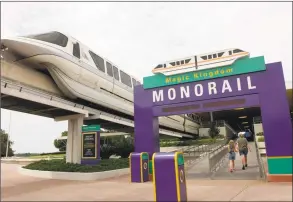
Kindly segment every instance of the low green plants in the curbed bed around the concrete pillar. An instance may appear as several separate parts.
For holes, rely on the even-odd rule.
[[[41,160],[24,166],[26,169],[59,172],[103,172],[129,167],[129,159],[105,159],[98,165],[66,163],[64,159]]]

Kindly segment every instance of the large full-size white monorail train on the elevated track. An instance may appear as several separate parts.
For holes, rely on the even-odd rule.
[[[50,74],[63,94],[133,117],[133,88],[138,79],[100,57],[69,35],[49,32],[1,40],[7,61]],[[160,117],[159,124],[191,134],[199,125],[190,116]]]

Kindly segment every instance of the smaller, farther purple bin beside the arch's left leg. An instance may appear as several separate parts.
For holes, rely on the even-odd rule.
[[[146,152],[132,152],[129,155],[130,181],[149,181],[149,154]]]

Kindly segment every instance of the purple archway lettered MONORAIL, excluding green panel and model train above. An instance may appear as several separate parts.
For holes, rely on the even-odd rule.
[[[260,106],[269,181],[292,181],[292,123],[281,62],[266,70],[134,89],[135,151],[159,152],[159,116]],[[279,166],[281,165],[281,166]]]

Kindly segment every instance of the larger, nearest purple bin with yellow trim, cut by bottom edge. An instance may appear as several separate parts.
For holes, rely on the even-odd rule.
[[[183,153],[154,153],[155,201],[187,201]]]

